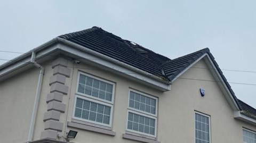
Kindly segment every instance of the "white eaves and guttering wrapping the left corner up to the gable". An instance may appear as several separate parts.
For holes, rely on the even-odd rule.
[[[56,43],[57,41],[63,44],[57,44],[53,46],[53,44]],[[20,69],[25,65],[28,65],[30,62],[31,53],[33,51],[37,52],[35,59],[38,60],[39,58],[42,58],[46,55],[50,55],[52,52],[57,50],[76,55],[79,58],[86,57],[85,60],[91,59],[90,61],[94,63],[107,66],[110,69],[129,75],[129,77],[133,77],[161,91],[171,90],[171,83],[169,81],[163,80],[159,77],[156,77],[153,74],[139,70],[137,68],[134,68],[133,66],[127,65],[123,62],[110,58],[106,55],[92,51],[91,49],[88,49],[81,45],[77,45],[75,43],[72,43],[68,40],[61,39],[61,38],[54,38],[49,42],[33,49],[30,52],[22,54],[17,58],[14,58],[12,62],[7,62],[6,64],[0,66],[0,80],[1,80],[1,77],[4,77],[4,75],[9,74],[10,72],[15,71],[17,69]]]

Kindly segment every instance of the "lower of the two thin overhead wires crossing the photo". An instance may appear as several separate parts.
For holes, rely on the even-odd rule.
[[[16,61],[14,61],[14,60],[6,60],[6,59],[2,59],[2,58],[0,58],[0,60],[16,62]],[[25,62],[25,61],[19,61],[19,62],[22,62],[22,63],[30,63],[30,62]],[[42,64],[42,65],[45,65],[45,66],[53,66],[53,64]],[[74,66],[67,66],[67,68],[103,71],[102,69],[91,69],[91,68],[82,68],[82,67],[74,67]],[[108,70],[105,69],[105,71],[108,71]],[[139,73],[134,73],[134,72],[121,72],[121,71],[109,71],[109,72],[127,73],[127,74],[139,74]],[[149,76],[153,76],[152,74],[148,74],[148,75],[149,75]],[[183,79],[183,80],[197,80],[197,81],[208,81],[208,82],[218,82],[218,83],[222,82],[222,83],[225,83],[225,82],[223,82],[223,81],[205,80],[205,79],[193,79],[193,78],[177,78],[177,79]],[[228,83],[237,84],[237,85],[256,86],[256,84],[252,84],[252,83],[241,83],[241,82],[228,82]]]

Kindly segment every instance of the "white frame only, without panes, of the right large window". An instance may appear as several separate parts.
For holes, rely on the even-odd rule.
[[[141,94],[143,96],[147,96],[149,98],[153,98],[156,100],[156,114],[151,114],[151,113],[148,113],[148,112],[145,112],[145,111],[140,111],[140,110],[137,110],[135,108],[132,108],[129,106],[129,102],[130,102],[130,92],[133,91],[135,93],[138,93],[138,94]],[[148,95],[148,94],[145,94],[143,92],[140,92],[138,90],[134,90],[134,89],[129,89],[129,94],[128,94],[128,108],[127,108],[127,119],[126,119],[126,131],[127,133],[134,133],[135,135],[137,136],[142,136],[142,137],[146,137],[146,138],[153,138],[155,139],[156,138],[156,133],[157,133],[157,110],[158,110],[158,98],[157,97],[154,97],[154,96],[151,96],[151,95]],[[141,115],[141,116],[145,116],[145,117],[149,117],[151,119],[155,119],[155,135],[152,135],[152,134],[149,134],[149,133],[144,133],[144,132],[139,132],[139,131],[134,131],[134,130],[131,130],[131,129],[128,129],[128,116],[129,116],[129,112],[131,113],[134,113],[134,114],[138,114],[138,115]]]

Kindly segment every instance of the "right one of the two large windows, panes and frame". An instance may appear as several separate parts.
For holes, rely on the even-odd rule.
[[[130,90],[126,130],[156,137],[157,98]]]

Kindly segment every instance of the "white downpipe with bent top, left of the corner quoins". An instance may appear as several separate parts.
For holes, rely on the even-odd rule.
[[[39,76],[38,76],[38,82],[37,82],[37,87],[36,87],[36,95],[35,95],[35,101],[34,101],[34,108],[33,108],[33,112],[32,112],[32,115],[31,115],[27,142],[31,141],[32,138],[33,138],[33,135],[34,135],[37,108],[38,108],[39,97],[40,97],[40,93],[41,93],[41,89],[42,89],[42,82],[43,82],[43,76],[44,76],[43,66],[41,66],[40,64],[35,62],[35,52],[32,52],[30,62],[33,63],[36,66],[36,68],[40,69],[40,71],[39,71]]]

